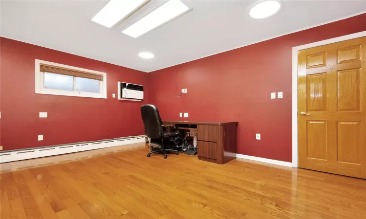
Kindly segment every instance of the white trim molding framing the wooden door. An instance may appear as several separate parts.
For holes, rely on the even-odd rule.
[[[292,167],[298,167],[298,118],[297,118],[297,55],[300,50],[309,49],[312,47],[323,46],[326,44],[345,41],[359,37],[366,37],[366,31],[325,39],[318,42],[313,42],[301,46],[292,47]]]

